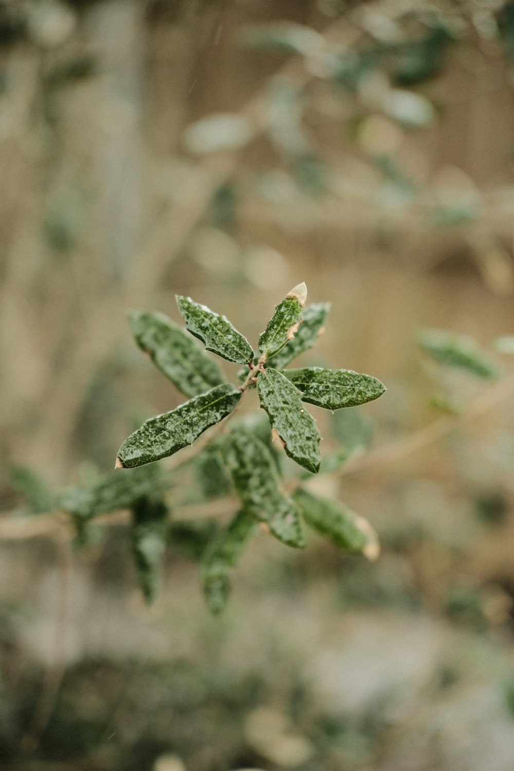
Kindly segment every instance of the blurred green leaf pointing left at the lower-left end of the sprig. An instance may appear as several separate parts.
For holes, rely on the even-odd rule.
[[[59,495],[56,505],[83,519],[106,511],[129,509],[134,501],[155,492],[159,478],[159,466],[146,466],[130,472],[116,471],[94,484],[66,488]]]

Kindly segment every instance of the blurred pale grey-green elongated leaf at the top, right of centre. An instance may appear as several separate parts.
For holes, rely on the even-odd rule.
[[[248,48],[302,56],[316,55],[323,50],[325,44],[324,37],[319,32],[294,22],[251,25],[244,30],[242,41]]]

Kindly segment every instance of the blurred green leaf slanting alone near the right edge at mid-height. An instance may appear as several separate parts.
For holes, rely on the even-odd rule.
[[[479,378],[496,379],[499,371],[483,355],[478,343],[469,335],[453,335],[442,329],[426,329],[418,337],[425,353],[448,367],[465,369]]]

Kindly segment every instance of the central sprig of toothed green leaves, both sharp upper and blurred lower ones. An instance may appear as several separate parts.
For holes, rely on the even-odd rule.
[[[201,559],[203,588],[213,611],[226,603],[230,568],[260,527],[289,547],[304,548],[305,521],[337,547],[378,556],[378,540],[366,520],[341,503],[304,489],[309,477],[334,470],[349,454],[334,453],[324,459],[328,462],[324,466],[321,436],[304,402],[333,412],[370,402],[385,391],[378,379],[347,369],[285,369],[314,345],[328,315],[328,303],[306,306],[306,297],[305,284],[299,284],[277,305],[260,335],[257,354],[227,318],[190,298],[176,298],[188,331],[160,313],[130,315],[139,348],[189,401],[146,420],[123,442],[116,459],[116,469],[123,471],[92,486],[67,490],[60,505],[72,513],[82,542],[87,540],[90,520],[99,513],[131,511],[133,554],[147,601],[156,594],[166,543],[177,534],[189,553]],[[208,351],[245,365],[238,373],[240,385],[225,382],[220,367],[191,335]],[[253,388],[269,423],[251,414],[232,421]],[[207,442],[192,447],[215,425]],[[301,467],[299,478],[284,469],[277,446]],[[175,465],[161,468],[154,463],[180,450]],[[237,512],[226,526],[207,532],[193,526],[193,520],[173,518],[168,491],[173,488],[177,500],[188,472],[194,478],[190,500],[227,497],[235,490]]]

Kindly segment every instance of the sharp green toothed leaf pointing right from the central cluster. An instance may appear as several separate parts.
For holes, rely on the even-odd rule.
[[[385,392],[380,380],[352,372],[351,369],[304,367],[285,369],[282,374],[301,391],[302,401],[331,409],[332,412],[372,402]]]

